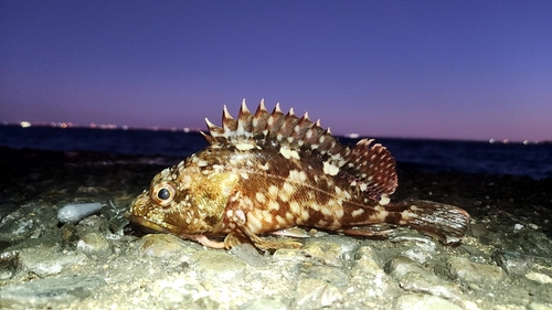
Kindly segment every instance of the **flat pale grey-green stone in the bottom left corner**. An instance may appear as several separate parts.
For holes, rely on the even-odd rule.
[[[66,276],[9,285],[0,290],[0,308],[65,308],[71,302],[92,295],[107,282],[94,276]]]

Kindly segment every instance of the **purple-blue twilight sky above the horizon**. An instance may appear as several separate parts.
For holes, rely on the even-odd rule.
[[[552,139],[552,1],[0,0],[0,121]]]

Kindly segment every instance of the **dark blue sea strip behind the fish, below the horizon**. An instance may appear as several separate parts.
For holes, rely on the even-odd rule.
[[[552,143],[375,138],[399,165],[439,172],[552,178]],[[339,137],[343,145],[359,139]],[[185,158],[206,147],[199,132],[0,126],[0,147]]]

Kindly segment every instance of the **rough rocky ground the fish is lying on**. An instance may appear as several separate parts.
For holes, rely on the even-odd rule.
[[[399,165],[393,199],[467,210],[457,247],[317,233],[299,249],[208,249],[123,214],[167,158],[0,149],[0,308],[552,309],[552,180]],[[71,203],[103,209],[59,223]]]

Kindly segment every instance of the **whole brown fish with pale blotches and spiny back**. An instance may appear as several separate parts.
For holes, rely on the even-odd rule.
[[[173,234],[210,248],[248,243],[262,250],[298,248],[294,227],[357,237],[385,237],[407,226],[447,245],[461,243],[469,214],[431,201],[392,202],[395,159],[373,139],[343,146],[308,113],[253,114],[242,101],[237,118],[223,107],[222,127],[205,118],[209,146],[159,172],[126,212],[130,224]],[[293,233],[290,235],[294,235]]]

